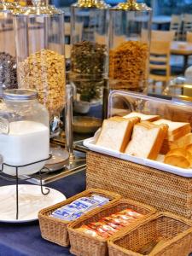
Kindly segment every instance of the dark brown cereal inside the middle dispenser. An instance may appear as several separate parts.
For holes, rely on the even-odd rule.
[[[91,102],[102,97],[108,67],[107,46],[90,41],[73,44],[70,80],[80,101]]]

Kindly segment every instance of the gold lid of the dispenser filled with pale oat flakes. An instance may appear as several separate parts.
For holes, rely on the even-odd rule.
[[[49,5],[47,0],[32,0],[33,6],[21,8],[15,13],[20,15],[61,15],[64,12],[61,9],[56,9],[55,6]]]

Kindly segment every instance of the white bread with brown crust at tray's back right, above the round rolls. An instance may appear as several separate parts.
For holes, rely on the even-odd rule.
[[[191,131],[191,127],[189,123],[183,123],[183,122],[172,122],[167,119],[159,119],[153,122],[154,125],[168,125],[168,139],[178,139],[179,137],[183,137],[185,134],[189,133]]]

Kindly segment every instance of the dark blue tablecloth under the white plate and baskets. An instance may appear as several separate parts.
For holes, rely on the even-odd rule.
[[[0,179],[0,186],[11,183]],[[85,173],[79,172],[47,185],[67,197],[85,189]],[[0,205],[1,207],[1,205]],[[69,249],[45,241],[40,234],[38,221],[26,224],[0,223],[0,256],[66,256]]]

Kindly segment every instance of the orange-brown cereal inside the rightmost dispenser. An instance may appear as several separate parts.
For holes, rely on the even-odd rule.
[[[148,44],[127,41],[109,53],[111,89],[139,90],[148,77]]]

